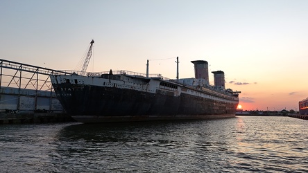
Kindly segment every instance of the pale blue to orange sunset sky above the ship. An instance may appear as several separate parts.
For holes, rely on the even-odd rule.
[[[0,0],[0,59],[56,70],[194,77],[225,72],[243,110],[298,111],[308,98],[306,0]],[[214,85],[213,74],[209,83]]]

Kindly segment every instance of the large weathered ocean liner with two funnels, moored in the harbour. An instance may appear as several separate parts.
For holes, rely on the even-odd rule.
[[[91,56],[92,44],[87,59]],[[53,73],[51,83],[62,107],[79,122],[235,116],[240,92],[225,89],[223,71],[212,72],[212,86],[209,85],[207,62],[197,60],[192,63],[195,78],[179,79],[177,75],[171,80],[162,75],[150,75],[147,64],[146,74],[112,70],[101,73],[81,71],[70,75]]]

